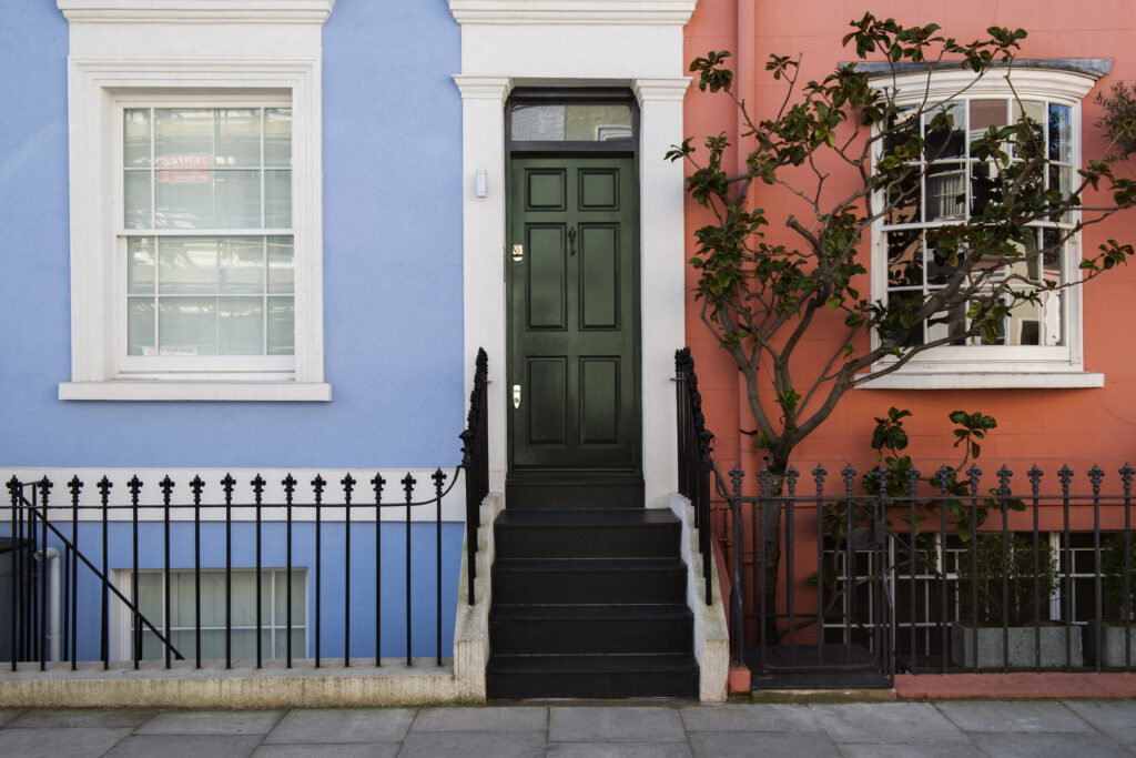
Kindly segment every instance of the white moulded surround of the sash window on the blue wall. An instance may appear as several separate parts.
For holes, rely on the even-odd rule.
[[[70,32],[72,376],[59,384],[61,400],[331,400],[320,60],[333,3],[57,0]],[[126,355],[120,156],[123,109],[131,103],[291,108],[294,356],[175,361]]]

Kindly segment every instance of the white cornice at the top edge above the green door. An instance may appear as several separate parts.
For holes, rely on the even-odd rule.
[[[459,24],[684,26],[698,0],[449,0]]]

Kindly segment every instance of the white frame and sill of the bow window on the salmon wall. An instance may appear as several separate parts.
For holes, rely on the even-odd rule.
[[[901,74],[894,80],[877,80],[877,86],[894,86],[897,90],[896,105],[900,107],[927,102],[944,102],[958,99],[968,101],[1006,100],[1013,105],[1043,102],[1067,108],[1069,114],[1070,143],[1068,145],[1070,173],[1076,178],[1076,169],[1081,165],[1081,100],[1088,94],[1097,76],[1089,73],[1050,69],[1044,67],[1014,68],[1013,89],[1006,81],[1006,72],[992,69],[975,81],[974,73],[963,69],[937,70],[929,78],[926,72]],[[968,88],[968,89],[966,89]],[[966,92],[955,98],[960,91]],[[933,115],[933,114],[930,114]],[[929,118],[929,115],[925,118]],[[964,153],[967,155],[967,153]],[[960,163],[961,165],[966,165]],[[928,191],[924,190],[925,199]],[[969,198],[969,192],[967,193]],[[882,198],[880,198],[882,200]],[[924,202],[926,205],[926,200]],[[949,220],[943,216],[944,220]],[[1072,219],[1075,220],[1075,219]],[[933,224],[932,224],[933,225]],[[928,227],[928,222],[914,226]],[[872,227],[872,299],[884,299],[888,294],[888,248],[887,225],[883,219]],[[888,228],[894,228],[888,227]],[[1039,227],[1041,228],[1041,227]],[[1063,281],[1080,277],[1080,234],[1066,243],[1066,255],[1061,264]],[[894,289],[894,288],[893,288]],[[942,345],[933,348],[908,361],[901,368],[859,386],[863,389],[1002,389],[1002,388],[1094,388],[1103,386],[1104,375],[1086,372],[1084,367],[1084,344],[1081,339],[1081,289],[1070,288],[1062,293],[1060,320],[1061,344],[1037,345]],[[875,339],[875,338],[874,338]],[[1043,338],[1044,340],[1044,338]],[[1050,340],[1053,342],[1054,340]],[[885,359],[877,368],[894,359]]]

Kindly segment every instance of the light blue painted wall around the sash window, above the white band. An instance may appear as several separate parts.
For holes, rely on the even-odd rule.
[[[459,458],[460,35],[444,2],[340,0],[324,27],[331,403],[62,402],[70,377],[67,23],[5,3],[0,466],[433,467]]]

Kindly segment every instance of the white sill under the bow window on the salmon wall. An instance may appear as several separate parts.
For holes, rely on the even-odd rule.
[[[859,374],[859,377],[864,374]],[[857,385],[858,390],[1060,390],[1104,386],[1104,374],[1070,364],[974,363],[908,364],[899,370]]]

